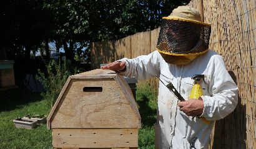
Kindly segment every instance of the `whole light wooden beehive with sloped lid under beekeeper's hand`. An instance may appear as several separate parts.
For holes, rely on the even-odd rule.
[[[92,70],[69,76],[47,129],[54,148],[137,148],[140,115],[122,76]]]

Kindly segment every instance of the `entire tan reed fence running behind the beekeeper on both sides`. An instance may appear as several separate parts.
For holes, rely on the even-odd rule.
[[[256,1],[192,0],[189,6],[204,13],[204,22],[212,25],[210,48],[224,57],[227,70],[239,87],[239,103],[232,114],[215,122],[210,148],[255,149]],[[92,43],[92,68],[153,52],[158,34],[159,29],[155,29],[120,40]],[[150,84],[157,86],[157,79],[150,79]]]

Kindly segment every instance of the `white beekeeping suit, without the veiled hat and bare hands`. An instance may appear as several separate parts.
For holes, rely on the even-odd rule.
[[[177,98],[159,83],[155,148],[190,148],[192,140],[195,148],[208,148],[214,120],[224,118],[237,105],[237,86],[225,69],[222,56],[212,50],[197,56],[187,65],[166,63],[157,51],[121,61],[126,61],[126,71],[122,75],[137,79],[160,76],[160,79],[167,81],[166,84],[174,84],[184,99],[189,98],[193,86],[191,77],[195,74],[206,76],[205,83],[201,83],[204,93],[204,112],[201,116],[211,121],[209,125],[179,111]]]

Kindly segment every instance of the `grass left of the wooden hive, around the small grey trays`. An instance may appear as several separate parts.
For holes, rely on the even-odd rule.
[[[49,114],[49,101],[20,89],[2,91],[0,97],[0,148],[52,148],[51,130],[46,125],[27,130],[15,128],[12,122],[27,114]]]

